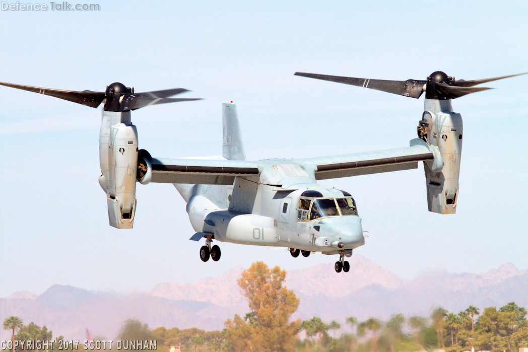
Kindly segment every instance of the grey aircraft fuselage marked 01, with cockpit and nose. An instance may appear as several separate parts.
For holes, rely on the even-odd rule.
[[[318,185],[299,165],[268,168],[233,186],[176,185],[196,239],[345,255],[365,243],[350,194]]]

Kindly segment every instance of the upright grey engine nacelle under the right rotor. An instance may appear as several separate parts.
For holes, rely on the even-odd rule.
[[[439,172],[435,172],[427,162],[423,163],[429,211],[455,214],[462,153],[462,117],[452,111],[450,99],[426,99],[420,125],[425,129],[428,143],[438,147],[444,161]]]

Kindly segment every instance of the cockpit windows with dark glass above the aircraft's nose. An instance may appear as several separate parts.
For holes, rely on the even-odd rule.
[[[299,198],[297,219],[313,221],[328,216],[357,215],[354,198],[347,192],[343,192],[343,195],[340,198],[324,198],[318,191],[303,192]]]

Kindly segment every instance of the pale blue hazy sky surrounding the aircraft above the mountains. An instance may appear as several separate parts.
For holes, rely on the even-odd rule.
[[[249,160],[400,148],[416,138],[423,96],[296,71],[388,80],[528,71],[523,1],[97,4],[93,12],[0,11],[0,81],[93,91],[118,81],[205,98],[132,113],[140,148],[155,157],[221,155],[221,103],[229,101]],[[421,165],[320,182],[356,199],[369,237],[354,253],[403,279],[504,263],[528,269],[527,83],[528,75],[490,82],[493,90],[453,101],[464,119],[456,215],[427,211]],[[202,244],[188,240],[185,203],[168,184],[138,184],[134,229],[110,227],[97,180],[100,114],[0,87],[0,297],[53,284],[146,292],[257,260],[333,270],[335,256],[228,243],[219,262],[203,263]]]

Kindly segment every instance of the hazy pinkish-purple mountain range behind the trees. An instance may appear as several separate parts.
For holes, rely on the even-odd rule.
[[[528,307],[528,270],[513,264],[480,274],[427,272],[404,281],[361,255],[350,260],[347,274],[336,274],[333,264],[291,270],[286,286],[300,298],[294,318],[318,316],[344,322],[346,317],[389,318],[393,313],[428,316],[442,306],[458,312],[474,305],[501,307],[514,301]],[[54,285],[40,296],[20,291],[0,299],[0,319],[14,315],[24,324],[45,325],[54,336],[86,339],[115,338],[126,319],[136,318],[150,328],[197,327],[218,330],[235,313],[248,312],[237,279],[245,268],[232,268],[215,278],[196,283],[160,283],[147,293],[92,292]],[[0,339],[10,338],[2,330]]]

